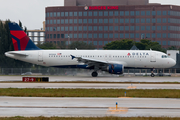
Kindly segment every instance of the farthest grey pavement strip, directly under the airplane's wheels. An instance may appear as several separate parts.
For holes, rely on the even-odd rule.
[[[0,81],[22,81],[27,76],[0,76]],[[33,77],[33,76],[30,76]],[[38,76],[35,76],[38,77]],[[180,82],[180,77],[84,77],[84,76],[40,76],[49,77],[50,82],[91,81],[91,82]]]

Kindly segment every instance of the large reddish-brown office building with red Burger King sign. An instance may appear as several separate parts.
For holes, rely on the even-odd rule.
[[[46,42],[84,41],[98,49],[114,40],[150,39],[180,47],[180,6],[149,0],[64,0],[46,8]]]

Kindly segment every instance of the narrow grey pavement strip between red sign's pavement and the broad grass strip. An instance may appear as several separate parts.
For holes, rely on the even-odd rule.
[[[180,89],[180,84],[123,83],[1,83],[0,88],[81,88],[81,89]]]

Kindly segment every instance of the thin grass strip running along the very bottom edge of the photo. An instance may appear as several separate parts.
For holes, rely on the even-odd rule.
[[[0,117],[1,120],[179,120],[170,117]]]

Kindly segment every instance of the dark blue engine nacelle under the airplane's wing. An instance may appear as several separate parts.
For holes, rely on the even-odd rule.
[[[110,64],[107,70],[111,74],[123,74],[124,66],[121,64]]]

